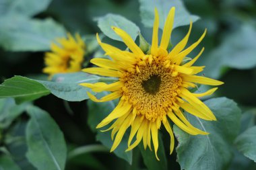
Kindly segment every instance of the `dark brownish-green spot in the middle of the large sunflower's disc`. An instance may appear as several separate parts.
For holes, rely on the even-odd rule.
[[[151,75],[146,81],[142,81],[143,89],[152,95],[156,95],[160,89],[161,77],[159,75]]]

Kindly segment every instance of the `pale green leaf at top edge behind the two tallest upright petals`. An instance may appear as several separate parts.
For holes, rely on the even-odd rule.
[[[158,9],[159,13],[159,28],[164,28],[164,22],[170,11],[171,7],[176,7],[173,29],[179,26],[189,25],[189,22],[196,22],[199,19],[196,15],[190,15],[182,1],[170,1],[170,0],[139,0],[141,22],[146,27],[153,27],[154,24],[154,9]]]

